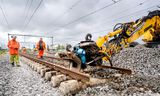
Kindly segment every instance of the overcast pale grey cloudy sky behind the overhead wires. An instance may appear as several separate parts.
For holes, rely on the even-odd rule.
[[[53,36],[54,44],[76,44],[84,40],[87,33],[91,33],[93,40],[96,40],[99,36],[112,32],[116,23],[134,21],[147,15],[149,11],[160,9],[157,7],[160,0],[40,2],[41,0],[0,0],[1,46],[7,44],[8,33]],[[39,4],[38,10],[35,11]],[[35,43],[38,40],[39,38],[18,37],[19,42]],[[51,44],[49,38],[44,38],[44,41]]]

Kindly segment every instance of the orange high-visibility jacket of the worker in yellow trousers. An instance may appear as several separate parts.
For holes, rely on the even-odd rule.
[[[17,55],[19,47],[19,42],[17,42],[16,40],[10,40],[8,42],[9,53],[11,55]]]

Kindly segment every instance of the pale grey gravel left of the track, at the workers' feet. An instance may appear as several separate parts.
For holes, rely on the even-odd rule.
[[[21,67],[12,67],[8,55],[0,59],[0,96],[62,96],[28,65],[21,62]]]

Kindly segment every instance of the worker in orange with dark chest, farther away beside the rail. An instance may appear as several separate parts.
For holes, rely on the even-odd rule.
[[[38,58],[42,59],[44,50],[46,49],[46,44],[42,38],[40,38],[39,42],[37,43],[37,49],[38,49]]]

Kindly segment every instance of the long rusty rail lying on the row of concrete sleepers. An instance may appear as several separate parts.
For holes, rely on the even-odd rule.
[[[32,61],[38,62],[38,63],[43,64],[45,66],[48,66],[50,68],[53,68],[54,70],[59,71],[59,72],[65,74],[65,75],[68,75],[73,79],[76,79],[76,80],[79,80],[79,81],[82,81],[82,82],[88,82],[90,80],[90,77],[86,74],[76,72],[76,71],[64,68],[62,66],[59,66],[59,65],[41,60],[41,59],[37,59],[37,58],[32,57],[32,56],[27,55],[27,54],[20,53],[20,55],[25,57],[25,58],[28,58]]]

